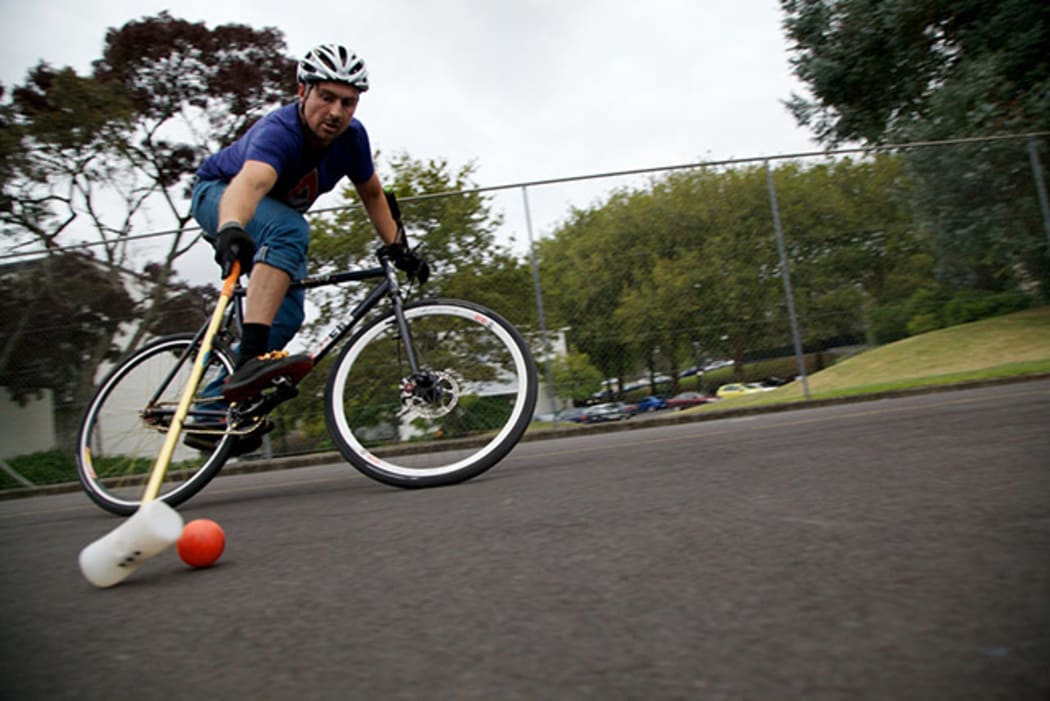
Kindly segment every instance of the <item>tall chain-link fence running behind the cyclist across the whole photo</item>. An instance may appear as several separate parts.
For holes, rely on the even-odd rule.
[[[1046,303],[1047,162],[1046,134],[959,140],[426,193],[402,210],[410,231],[438,199],[481,197],[501,217],[507,257],[466,271],[448,247],[432,291],[522,328],[550,415],[747,383],[808,394],[811,375],[859,349]],[[318,222],[340,216],[360,214]],[[120,352],[205,317],[209,294],[169,286],[144,332],[131,317],[154,283],[82,251],[0,259],[4,485],[27,455],[68,479],[80,416]],[[315,302],[309,328],[338,309]],[[331,448],[320,392],[278,409],[267,454]]]

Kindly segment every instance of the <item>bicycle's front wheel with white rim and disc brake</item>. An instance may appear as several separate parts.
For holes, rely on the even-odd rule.
[[[536,363],[521,334],[484,306],[452,299],[404,307],[420,371],[393,314],[354,336],[329,376],[324,412],[339,452],[396,487],[469,480],[525,432]]]

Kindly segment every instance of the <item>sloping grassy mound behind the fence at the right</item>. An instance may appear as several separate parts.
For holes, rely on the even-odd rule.
[[[1050,306],[888,343],[808,377],[812,399],[1050,373]],[[803,400],[801,382],[704,409]]]

